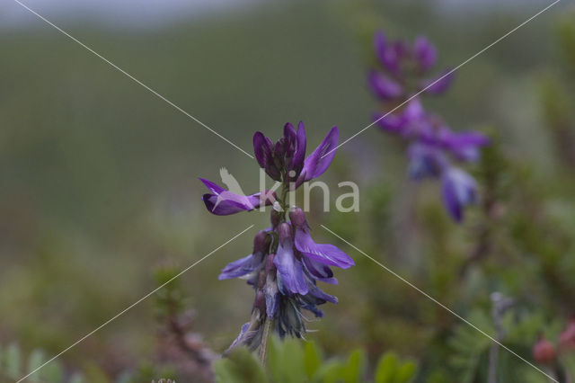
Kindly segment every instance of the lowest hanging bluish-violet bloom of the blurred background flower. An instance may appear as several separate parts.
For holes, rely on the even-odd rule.
[[[473,177],[456,167],[449,168],[441,177],[443,202],[456,222],[464,218],[464,207],[475,203],[477,184]]]

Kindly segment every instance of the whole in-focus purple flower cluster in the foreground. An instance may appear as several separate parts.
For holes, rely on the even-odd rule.
[[[338,301],[323,292],[317,281],[336,284],[330,266],[347,269],[354,264],[336,246],[316,244],[304,211],[287,205],[288,191],[295,191],[302,183],[320,176],[332,163],[338,129],[333,127],[307,157],[306,140],[302,122],[297,129],[286,124],[283,137],[275,144],[261,132],[254,134],[255,157],[266,174],[281,184],[278,194],[262,191],[243,196],[200,179],[210,191],[203,200],[213,214],[228,215],[273,205],[271,225],[254,237],[252,254],[229,263],[219,275],[220,280],[243,278],[255,290],[252,318],[242,326],[230,348],[246,345],[255,350],[266,338],[266,328],[273,328],[280,337],[305,334],[302,309],[321,317],[319,305]]]

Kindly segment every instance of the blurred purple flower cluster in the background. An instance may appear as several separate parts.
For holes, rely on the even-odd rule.
[[[441,180],[444,205],[459,222],[464,217],[464,207],[477,199],[477,185],[470,174],[453,163],[476,161],[489,139],[476,131],[455,132],[423,108],[420,95],[442,94],[453,80],[449,71],[437,80],[429,77],[438,57],[429,40],[419,37],[407,44],[402,40],[388,41],[382,32],[377,32],[374,44],[382,70],[370,71],[367,83],[384,102],[385,110],[391,111],[377,113],[374,120],[384,131],[409,142],[411,178]]]

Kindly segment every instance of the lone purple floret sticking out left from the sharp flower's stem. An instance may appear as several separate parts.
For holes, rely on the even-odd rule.
[[[240,211],[250,211],[257,209],[261,205],[261,193],[255,193],[249,196],[235,194],[232,191],[226,191],[217,183],[200,178],[199,181],[204,183],[211,194],[204,194],[202,200],[208,211],[217,216],[228,216],[239,213]],[[266,192],[265,195],[269,195]],[[265,205],[273,204],[275,198],[266,198]]]

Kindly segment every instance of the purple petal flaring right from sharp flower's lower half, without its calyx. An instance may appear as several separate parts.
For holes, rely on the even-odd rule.
[[[348,269],[355,263],[334,245],[316,244],[307,230],[296,228],[296,249],[316,262]]]

